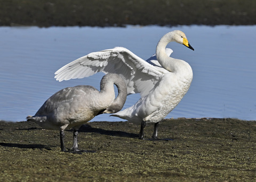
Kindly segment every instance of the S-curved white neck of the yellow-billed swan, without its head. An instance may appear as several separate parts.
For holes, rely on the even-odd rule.
[[[174,36],[173,32],[169,32],[169,33],[166,33],[159,40],[159,42],[156,46],[156,58],[157,58],[159,64],[161,64],[161,66],[163,68],[165,68],[169,72],[175,73],[180,70],[180,68],[183,65],[182,62],[184,62],[184,61],[182,61],[180,59],[174,59],[172,57],[169,57],[165,53],[165,48],[166,48],[167,44],[174,41],[173,36]]]

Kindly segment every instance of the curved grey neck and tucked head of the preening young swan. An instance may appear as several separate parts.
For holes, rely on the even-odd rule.
[[[114,84],[117,87],[118,95],[115,98]],[[101,93],[105,97],[114,94],[114,100],[111,101],[110,106],[106,108],[103,113],[114,113],[121,110],[124,106],[127,96],[127,89],[125,82],[117,74],[107,74],[103,77],[100,84]]]

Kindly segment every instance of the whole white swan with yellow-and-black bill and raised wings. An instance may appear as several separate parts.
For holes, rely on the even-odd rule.
[[[115,47],[74,60],[55,72],[55,79],[80,79],[97,72],[121,75],[127,85],[127,94],[140,93],[141,98],[133,106],[111,116],[141,123],[140,139],[144,137],[143,128],[146,124],[155,123],[153,138],[157,138],[158,123],[178,105],[193,79],[188,63],[169,57],[172,50],[165,50],[165,47],[171,41],[194,50],[185,33],[174,30],[159,40],[156,47],[157,60],[146,62],[126,48]]]

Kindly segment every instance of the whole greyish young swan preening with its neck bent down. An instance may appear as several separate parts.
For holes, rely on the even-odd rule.
[[[115,98],[114,84],[118,89]],[[77,130],[82,124],[103,113],[122,109],[126,100],[126,84],[117,74],[102,77],[100,92],[90,85],[62,89],[47,99],[35,116],[27,117],[46,129],[60,130],[61,150],[64,151],[64,130],[74,128],[73,150],[78,151]]]

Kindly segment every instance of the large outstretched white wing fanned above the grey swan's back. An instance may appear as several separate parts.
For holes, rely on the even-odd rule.
[[[123,47],[90,53],[63,66],[55,72],[58,81],[81,79],[95,73],[117,73],[127,85],[127,94],[146,96],[162,73],[155,66]]]

